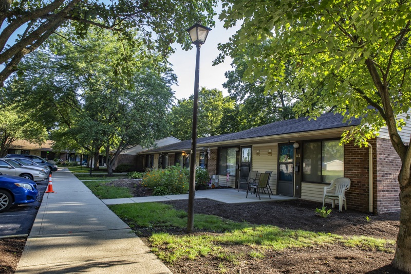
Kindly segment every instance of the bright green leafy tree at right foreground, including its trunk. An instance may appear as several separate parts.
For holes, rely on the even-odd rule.
[[[328,108],[361,117],[361,126],[345,135],[358,142],[387,125],[402,162],[393,264],[411,272],[411,149],[399,135],[404,121],[397,118],[411,106],[411,2],[227,0],[223,7],[225,26],[241,21],[241,28],[221,45],[217,61],[258,45],[246,58],[245,79],[264,78],[267,92],[301,96],[298,113],[320,115]],[[287,62],[295,74],[291,83],[285,81]]]

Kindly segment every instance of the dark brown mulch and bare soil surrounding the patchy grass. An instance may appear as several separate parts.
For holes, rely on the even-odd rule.
[[[152,191],[143,188],[136,179],[121,179],[111,185],[129,187],[136,197],[150,196]],[[208,190],[214,191],[214,190]],[[187,210],[187,200],[164,202],[176,209]],[[399,213],[369,215],[353,210],[338,212],[333,210],[327,218],[314,213],[321,208],[320,203],[304,200],[287,202],[264,202],[247,204],[224,204],[208,199],[196,199],[194,212],[213,214],[237,222],[258,225],[274,225],[287,229],[302,229],[315,232],[329,232],[343,236],[364,235],[375,238],[396,240],[399,229]],[[366,217],[370,218],[367,222]],[[176,228],[135,228],[135,232],[150,247],[148,238],[155,232],[186,234],[185,229]],[[211,233],[198,231],[195,233]],[[0,239],[0,273],[13,273],[24,248],[25,239]],[[246,245],[222,246],[239,256],[231,262],[213,256],[197,260],[180,260],[167,264],[177,273],[402,273],[390,266],[393,252],[361,250],[341,244],[313,246],[310,248],[290,248],[281,251],[267,250],[263,259],[251,258],[252,250]],[[395,246],[391,246],[395,249]]]

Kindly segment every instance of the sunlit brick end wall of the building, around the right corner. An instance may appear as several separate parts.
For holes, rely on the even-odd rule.
[[[401,160],[390,140],[377,138],[377,213],[400,211]]]

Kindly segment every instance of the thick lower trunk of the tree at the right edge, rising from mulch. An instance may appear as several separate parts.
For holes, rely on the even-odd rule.
[[[411,273],[411,187],[400,192],[400,231],[397,237],[397,249],[393,266]]]

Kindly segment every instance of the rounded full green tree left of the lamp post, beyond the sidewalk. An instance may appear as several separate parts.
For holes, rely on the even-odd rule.
[[[60,148],[77,143],[96,156],[103,149],[110,173],[126,147],[163,137],[175,76],[138,36],[124,43],[112,32],[94,30],[76,45],[64,36],[53,36],[51,48],[23,60],[24,74],[12,78],[7,96],[21,109],[32,109],[33,120],[48,124]],[[125,52],[128,60],[119,65]],[[111,150],[116,153],[108,157]]]

